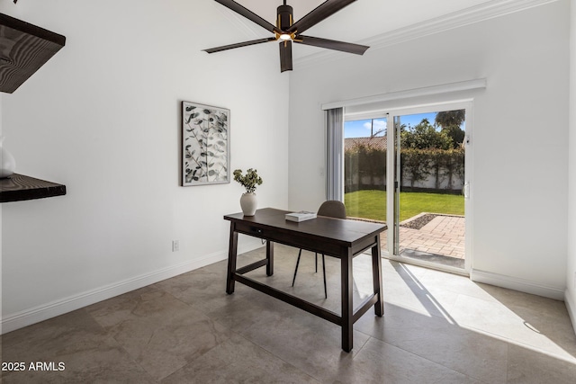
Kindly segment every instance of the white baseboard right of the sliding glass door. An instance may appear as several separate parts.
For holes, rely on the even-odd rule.
[[[563,288],[539,284],[534,281],[518,279],[517,277],[506,276],[503,274],[473,269],[472,272],[470,272],[470,279],[472,281],[496,285],[497,287],[508,288],[509,290],[519,290],[521,292],[531,293],[545,298],[561,301],[564,299]]]

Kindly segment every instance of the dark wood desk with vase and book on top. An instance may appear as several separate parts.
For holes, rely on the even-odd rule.
[[[353,348],[352,327],[356,320],[362,317],[372,306],[374,306],[376,316],[382,317],[384,313],[380,233],[386,227],[364,221],[332,219],[321,216],[317,219],[295,223],[284,219],[286,213],[289,212],[266,208],[257,210],[255,216],[244,216],[242,213],[224,216],[224,219],[230,221],[226,292],[233,293],[235,281],[238,281],[313,315],[329,320],[342,327],[342,349],[350,352]],[[267,240],[266,259],[237,269],[238,233]],[[272,276],[274,273],[274,243],[303,248],[340,259],[341,315],[244,276],[244,273],[265,265],[266,274]],[[352,259],[369,248],[372,248],[374,294],[365,299],[355,311],[352,302]]]

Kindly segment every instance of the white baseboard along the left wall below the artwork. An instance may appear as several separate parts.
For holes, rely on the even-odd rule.
[[[238,246],[238,254],[242,254],[256,249],[262,244],[260,241],[243,242]],[[130,290],[138,290],[147,285],[163,281],[179,274],[190,272],[211,263],[217,263],[228,257],[228,250],[216,252],[211,255],[205,255],[192,261],[171,265],[169,267],[154,272],[145,273],[133,278],[112,283],[94,290],[87,290],[77,295],[68,296],[67,298],[58,299],[47,304],[42,304],[35,308],[26,309],[14,314],[2,317],[0,329],[2,335],[12,332],[24,326],[40,323],[52,317],[64,315],[73,310],[84,308],[105,299],[111,299]]]

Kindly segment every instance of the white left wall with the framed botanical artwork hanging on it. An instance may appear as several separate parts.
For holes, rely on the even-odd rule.
[[[275,44],[201,51],[254,39],[220,4],[26,0],[0,12],[67,36],[2,96],[17,173],[67,186],[3,204],[4,332],[227,256],[222,216],[239,211],[243,190],[179,186],[183,100],[231,110],[231,168],[256,167],[259,205],[287,207],[288,112],[277,96],[288,76]]]

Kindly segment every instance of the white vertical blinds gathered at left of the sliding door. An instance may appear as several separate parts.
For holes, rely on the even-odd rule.
[[[326,198],[344,201],[344,108],[326,110]]]

